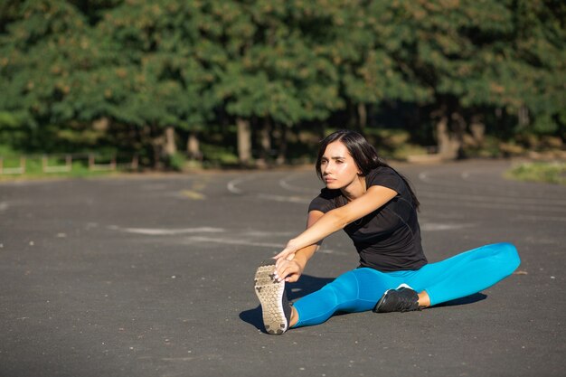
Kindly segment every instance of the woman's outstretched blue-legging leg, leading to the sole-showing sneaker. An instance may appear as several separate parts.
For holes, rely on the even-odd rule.
[[[302,297],[293,305],[298,322],[293,327],[318,325],[336,311],[349,313],[373,309],[383,292],[402,283],[402,278],[388,276],[374,269],[345,272],[320,290]]]

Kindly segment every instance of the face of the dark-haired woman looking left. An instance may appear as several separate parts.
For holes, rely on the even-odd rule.
[[[360,169],[341,141],[326,146],[320,161],[320,171],[328,189],[343,189],[354,183]]]

